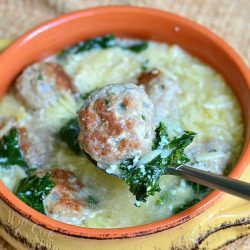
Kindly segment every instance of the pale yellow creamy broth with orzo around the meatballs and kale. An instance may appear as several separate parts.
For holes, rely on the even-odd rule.
[[[126,45],[134,41],[120,42]],[[186,150],[190,164],[223,174],[237,161],[243,144],[243,123],[236,97],[218,72],[179,46],[148,42],[148,47],[139,53],[116,46],[69,53],[63,59],[55,55],[46,61],[59,63],[81,95],[106,84],[136,83],[144,70],[160,70],[169,81],[166,93],[157,88],[151,92],[156,120],[166,122],[173,135],[178,130],[197,133]],[[161,191],[136,207],[135,198],[123,180],[98,170],[57,138],[61,126],[76,115],[81,103],[81,99],[72,98],[65,91],[51,105],[31,113],[10,91],[0,105],[2,120],[14,117],[19,124],[40,122],[51,128],[56,149],[50,162],[42,167],[73,171],[85,186],[83,196],[94,197],[94,204],[86,204],[84,218],[67,223],[96,228],[141,225],[169,217],[179,212],[182,205],[191,206],[192,201],[207,194],[197,192],[179,177],[162,176]],[[1,180],[12,191],[24,176],[26,173],[20,167],[0,167]]]

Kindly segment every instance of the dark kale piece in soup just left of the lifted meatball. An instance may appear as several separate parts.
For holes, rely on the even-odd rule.
[[[60,139],[77,155],[82,155],[82,150],[78,142],[80,128],[77,118],[70,119],[59,131]]]

